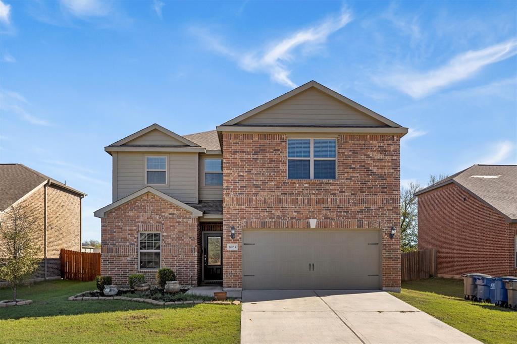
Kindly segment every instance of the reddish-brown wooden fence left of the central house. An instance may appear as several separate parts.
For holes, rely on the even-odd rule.
[[[100,253],[88,253],[61,249],[61,278],[94,280],[100,275]]]

